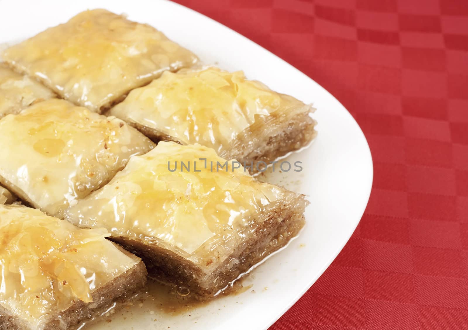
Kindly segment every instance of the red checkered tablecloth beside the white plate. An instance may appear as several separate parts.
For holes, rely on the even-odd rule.
[[[358,228],[271,330],[468,329],[468,0],[178,2],[325,87],[371,147]]]

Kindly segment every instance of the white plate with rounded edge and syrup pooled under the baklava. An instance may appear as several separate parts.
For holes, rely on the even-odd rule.
[[[325,271],[356,228],[373,178],[366,138],[343,105],[305,74],[218,22],[166,0],[0,0],[0,43],[25,39],[99,7],[153,25],[205,63],[244,70],[278,92],[314,103],[319,134],[309,148],[288,157],[302,162],[302,172],[260,176],[309,195],[312,204],[300,236],[244,281],[252,284],[249,290],[177,314],[162,312],[158,298],[147,299],[89,329],[268,328]]]

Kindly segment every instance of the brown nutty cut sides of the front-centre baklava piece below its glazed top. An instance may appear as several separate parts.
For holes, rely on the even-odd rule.
[[[305,223],[304,208],[308,205],[304,197],[297,195],[290,203],[265,214],[266,219],[256,226],[255,234],[210,274],[160,246],[122,236],[110,239],[142,258],[151,277],[171,286],[183,284],[198,299],[212,299],[219,292],[229,291],[232,282],[242,273],[299,234]],[[233,260],[236,261],[233,263]]]

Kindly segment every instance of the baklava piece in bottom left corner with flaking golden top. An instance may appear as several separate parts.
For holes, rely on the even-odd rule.
[[[0,329],[76,329],[138,292],[145,265],[108,236],[0,205]]]

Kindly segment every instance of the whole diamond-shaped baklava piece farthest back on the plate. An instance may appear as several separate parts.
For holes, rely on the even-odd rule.
[[[153,27],[104,9],[84,11],[8,48],[3,57],[16,71],[97,112],[163,71],[197,62]]]

